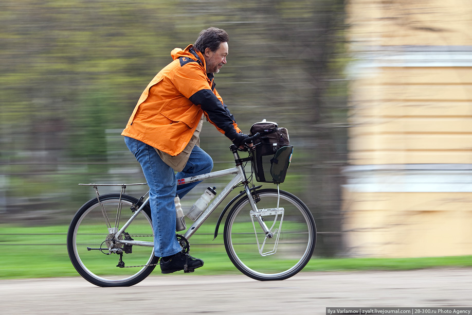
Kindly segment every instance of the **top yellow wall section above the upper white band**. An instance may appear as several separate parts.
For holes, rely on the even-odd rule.
[[[348,3],[351,43],[379,46],[467,46],[470,0],[352,0]]]

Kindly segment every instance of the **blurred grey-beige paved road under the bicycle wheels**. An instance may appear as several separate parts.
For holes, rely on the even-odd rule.
[[[471,307],[472,269],[150,276],[129,288],[81,277],[0,281],[1,314],[324,314],[326,307]]]

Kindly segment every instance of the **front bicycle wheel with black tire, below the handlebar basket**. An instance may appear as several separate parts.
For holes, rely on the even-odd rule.
[[[277,208],[277,189],[257,190],[252,196],[258,209]],[[253,224],[247,196],[234,204],[226,218],[224,242],[230,260],[243,274],[259,281],[294,276],[306,266],[315,250],[316,225],[308,207],[283,190],[280,190],[280,207],[284,209],[281,225],[281,214],[263,217],[269,229],[274,224],[271,231],[278,229],[273,238],[266,238],[256,220]],[[261,251],[264,239],[266,244]],[[264,250],[270,252],[272,246],[276,249],[274,253],[264,253]],[[261,253],[267,255],[262,256]]]

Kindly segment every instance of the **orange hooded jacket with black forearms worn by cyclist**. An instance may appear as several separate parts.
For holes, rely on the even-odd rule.
[[[241,130],[216,92],[213,74],[207,75],[205,58],[189,45],[171,52],[173,61],[147,88],[121,133],[170,155],[190,141],[202,114],[231,140]]]

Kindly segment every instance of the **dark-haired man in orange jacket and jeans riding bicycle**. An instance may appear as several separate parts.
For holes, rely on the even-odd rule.
[[[210,27],[200,32],[194,45],[171,52],[173,61],[142,92],[121,133],[141,164],[149,185],[154,230],[154,255],[162,273],[203,266],[203,260],[186,256],[175,237],[174,197],[184,197],[196,183],[177,180],[210,172],[213,161],[199,147],[203,119],[241,146],[248,136],[238,128],[213,82],[214,73],[226,64],[228,34]],[[175,173],[177,172],[177,173]]]

